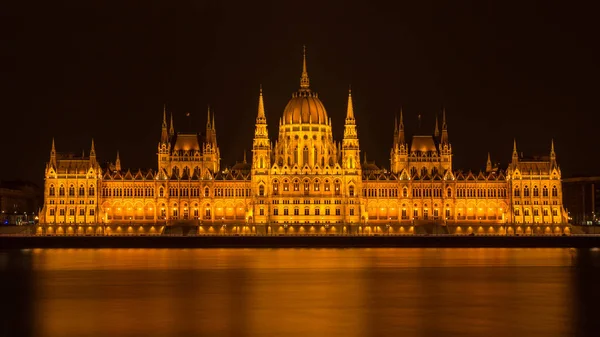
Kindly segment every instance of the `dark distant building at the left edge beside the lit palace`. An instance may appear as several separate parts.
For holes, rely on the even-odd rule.
[[[36,184],[20,180],[0,181],[0,224],[33,222],[41,204],[41,190]]]

